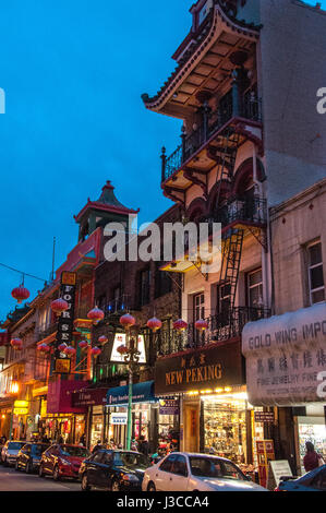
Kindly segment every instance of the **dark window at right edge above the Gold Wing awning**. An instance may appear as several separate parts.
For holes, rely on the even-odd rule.
[[[322,243],[315,242],[309,246],[307,253],[310,302],[316,305],[325,301]]]

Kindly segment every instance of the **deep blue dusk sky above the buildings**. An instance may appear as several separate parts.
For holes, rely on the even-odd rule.
[[[146,110],[141,95],[155,94],[173,70],[192,4],[2,2],[0,263],[48,279],[53,237],[59,267],[77,241],[73,215],[108,179],[123,204],[141,208],[141,222],[172,204],[159,155],[162,145],[174,150],[181,122]],[[0,320],[14,309],[20,281],[0,266]],[[43,288],[28,277],[25,285],[31,299]]]

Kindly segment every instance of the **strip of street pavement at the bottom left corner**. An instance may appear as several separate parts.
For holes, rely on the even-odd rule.
[[[13,467],[0,466],[0,491],[81,491],[76,481],[53,481],[46,477],[40,479],[37,474],[15,472]]]

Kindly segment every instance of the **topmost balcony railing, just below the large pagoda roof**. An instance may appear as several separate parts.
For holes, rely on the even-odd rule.
[[[182,143],[169,156],[162,159],[162,176],[165,181],[170,178],[191,156],[200,150],[216,132],[218,132],[232,118],[244,118],[251,121],[261,121],[261,102],[245,96],[238,110],[233,108],[232,99],[224,102],[216,111],[207,115],[202,124],[190,135],[182,135]]]

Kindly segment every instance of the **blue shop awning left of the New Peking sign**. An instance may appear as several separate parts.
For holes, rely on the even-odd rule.
[[[107,406],[128,406],[129,386],[117,386],[109,389],[107,393]],[[157,403],[158,398],[154,395],[154,381],[136,383],[132,386],[133,403]]]

